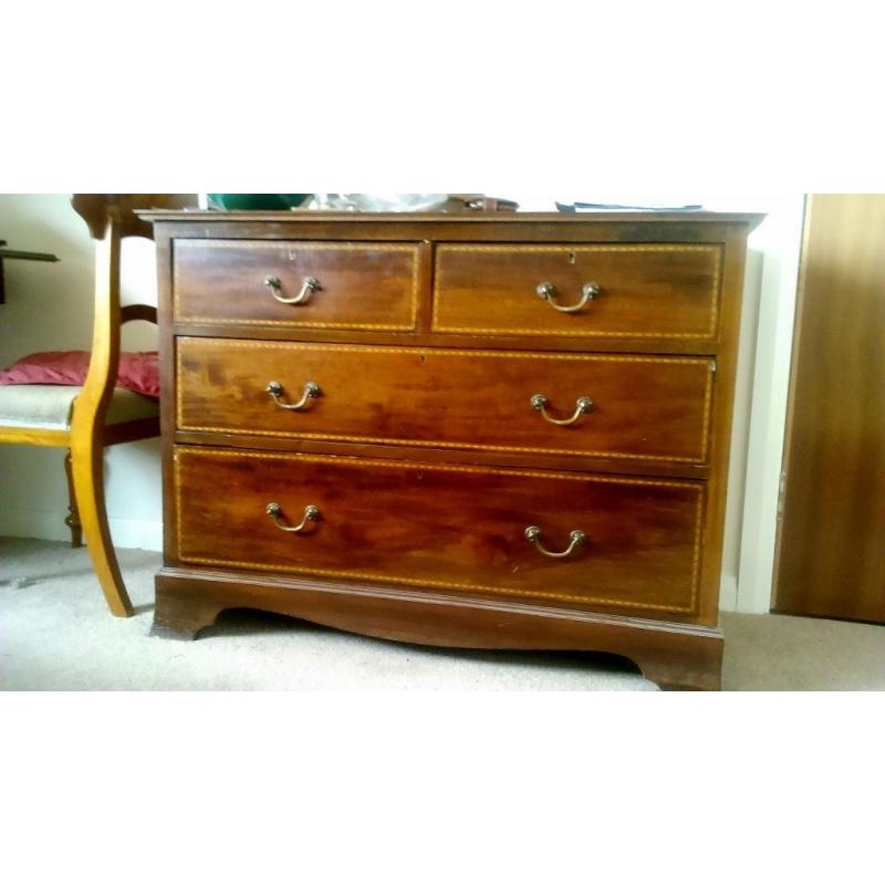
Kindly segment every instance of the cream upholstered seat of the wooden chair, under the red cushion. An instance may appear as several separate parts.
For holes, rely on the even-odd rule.
[[[70,430],[74,399],[82,387],[66,384],[0,385],[0,427]],[[122,424],[159,415],[159,403],[123,387],[114,388],[106,424]]]

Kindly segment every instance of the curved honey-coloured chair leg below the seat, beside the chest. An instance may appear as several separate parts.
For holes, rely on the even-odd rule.
[[[93,568],[111,613],[117,617],[128,617],[133,613],[132,603],[119,573],[107,527],[104,502],[104,449],[94,438],[79,440],[74,435],[71,440],[71,454],[74,494]]]

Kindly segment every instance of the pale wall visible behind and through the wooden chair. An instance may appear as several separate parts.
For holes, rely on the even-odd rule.
[[[92,337],[93,241],[67,194],[0,194],[0,238],[9,247],[53,252],[58,263],[4,261],[0,365],[35,351],[88,350]],[[156,304],[154,244],[124,241],[123,303]],[[129,323],[126,350],[153,350],[156,331]],[[64,524],[64,451],[0,446],[0,534],[70,540]],[[159,446],[115,446],[105,456],[107,512],[114,543],[162,549]]]

